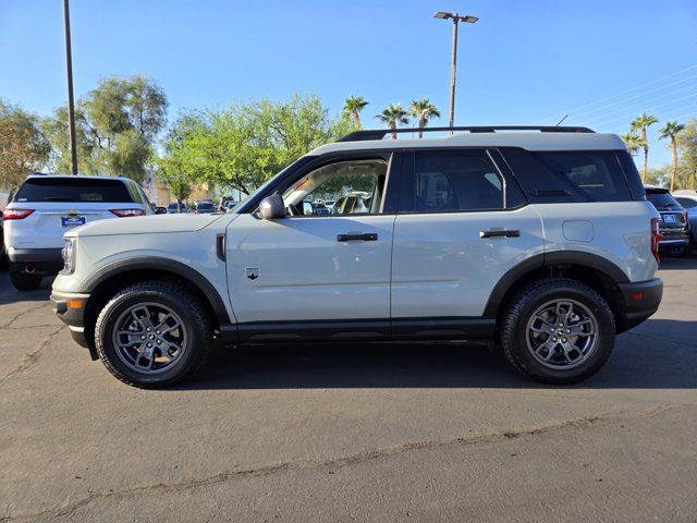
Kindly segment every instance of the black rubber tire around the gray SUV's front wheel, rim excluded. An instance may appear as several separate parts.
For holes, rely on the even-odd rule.
[[[119,318],[134,305],[144,303],[174,312],[186,332],[185,350],[169,368],[158,374],[138,372],[124,363],[113,340]],[[185,288],[162,281],[135,283],[123,289],[105,305],[95,325],[95,345],[107,369],[124,384],[140,388],[169,387],[189,378],[205,363],[212,343],[211,318],[201,301]]]

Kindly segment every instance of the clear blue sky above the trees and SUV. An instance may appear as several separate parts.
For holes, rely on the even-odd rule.
[[[565,123],[619,133],[644,109],[667,120],[697,115],[696,0],[72,0],[71,8],[75,95],[111,74],[145,73],[167,92],[170,120],[181,108],[299,92],[335,111],[348,94],[364,96],[366,126],[389,102],[429,97],[445,124],[451,25],[432,19],[439,10],[480,17],[461,29],[458,124],[554,124],[580,107]],[[0,97],[39,114],[64,104],[61,0],[0,0]],[[651,163],[669,160],[662,142],[652,155]]]

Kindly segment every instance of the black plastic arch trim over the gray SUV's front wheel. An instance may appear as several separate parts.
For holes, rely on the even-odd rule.
[[[105,265],[97,271],[93,272],[81,285],[81,293],[90,293],[99,284],[103,283],[114,276],[122,275],[124,272],[131,272],[133,270],[163,270],[176,275],[193,285],[204,294],[204,296],[210,302],[210,305],[216,314],[216,318],[220,325],[230,324],[230,315],[225,303],[218,290],[208,281],[208,279],[198,272],[196,269],[173,259],[160,258],[157,256],[146,256],[137,258],[124,258],[111,264]]]

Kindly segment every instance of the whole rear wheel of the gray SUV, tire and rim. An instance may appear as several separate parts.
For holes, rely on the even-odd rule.
[[[575,280],[542,280],[510,303],[501,332],[509,361],[538,381],[567,385],[602,367],[614,345],[608,303]]]

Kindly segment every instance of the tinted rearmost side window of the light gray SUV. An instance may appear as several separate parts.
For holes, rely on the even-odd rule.
[[[534,153],[534,156],[590,202],[632,199],[624,172],[613,151],[543,151]]]

